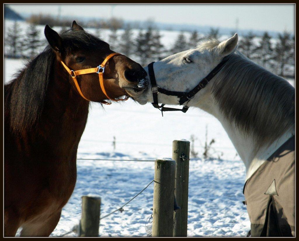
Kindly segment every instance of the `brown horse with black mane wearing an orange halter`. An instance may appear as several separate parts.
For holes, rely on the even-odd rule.
[[[77,148],[89,101],[71,70],[97,67],[111,53],[109,44],[75,21],[61,35],[45,27],[50,46],[4,86],[4,236],[49,236],[76,183]],[[123,55],[113,56],[103,74],[111,98],[141,94],[146,72]],[[87,99],[106,99],[96,73],[77,76]],[[139,86],[138,86],[139,84]],[[131,93],[132,94],[132,93]],[[105,137],[103,137],[105,138]]]

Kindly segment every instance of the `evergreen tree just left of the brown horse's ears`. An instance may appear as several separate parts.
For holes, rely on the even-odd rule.
[[[30,24],[26,29],[23,49],[28,50],[29,57],[32,58],[36,55],[41,45],[42,43],[39,39],[39,30],[37,30],[36,24]]]

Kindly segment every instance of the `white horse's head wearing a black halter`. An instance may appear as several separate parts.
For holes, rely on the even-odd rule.
[[[236,50],[238,34],[223,42],[210,40],[203,42],[195,49],[176,53],[158,62],[155,62],[154,72],[157,85],[161,88],[188,92],[205,78],[221,60]],[[144,68],[148,73],[148,68]],[[149,75],[148,75],[149,76]],[[148,77],[149,78],[149,77]],[[205,94],[209,93],[210,84],[197,93],[192,101],[198,103]],[[135,99],[141,105],[153,102],[151,86],[141,96]],[[177,105],[176,96],[158,94],[159,103]]]

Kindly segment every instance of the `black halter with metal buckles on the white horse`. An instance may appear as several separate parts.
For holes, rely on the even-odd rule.
[[[221,70],[221,68],[225,65],[227,61],[228,61],[228,56],[223,58],[222,61],[205,78],[203,78],[198,85],[196,85],[192,90],[188,92],[170,91],[170,90],[165,90],[163,88],[160,88],[157,85],[156,78],[155,78],[155,72],[153,67],[155,62],[151,62],[148,65],[148,70],[149,70],[149,80],[152,85],[152,97],[154,99],[152,105],[155,108],[161,110],[162,116],[163,116],[163,111],[182,111],[186,113],[187,110],[189,109],[189,106],[187,105],[190,99],[192,99],[199,90],[205,88],[208,85],[209,81],[213,79],[213,77]],[[177,96],[178,98],[180,98],[179,99],[180,105],[184,104],[185,102],[187,103],[186,105],[183,106],[182,109],[164,107],[165,104],[159,105],[158,103],[158,93],[162,93],[169,96]]]

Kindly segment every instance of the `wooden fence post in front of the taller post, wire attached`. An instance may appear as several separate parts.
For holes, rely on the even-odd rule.
[[[174,160],[155,161],[152,237],[173,235],[175,167]]]

